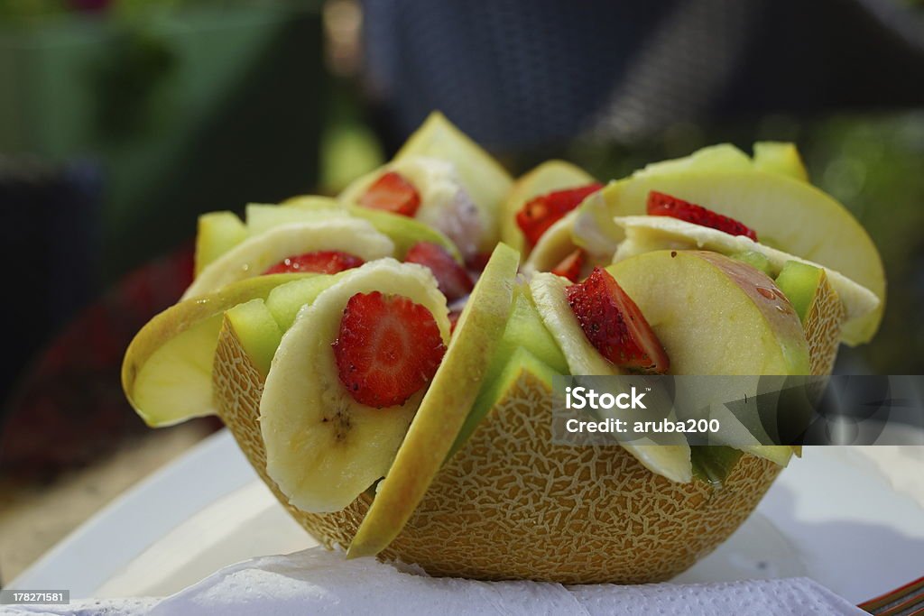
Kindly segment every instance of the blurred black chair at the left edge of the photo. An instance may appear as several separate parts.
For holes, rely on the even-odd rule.
[[[0,399],[30,355],[98,290],[101,200],[92,163],[0,156]]]

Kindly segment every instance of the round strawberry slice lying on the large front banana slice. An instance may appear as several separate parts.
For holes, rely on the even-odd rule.
[[[332,344],[340,382],[361,405],[403,405],[433,378],[446,351],[430,310],[378,291],[349,298]]]

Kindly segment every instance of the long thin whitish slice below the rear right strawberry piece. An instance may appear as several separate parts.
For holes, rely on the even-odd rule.
[[[842,332],[845,335],[845,342],[848,343],[852,340],[846,338],[846,329],[869,318],[869,315],[874,314],[881,304],[879,297],[872,291],[850,280],[841,272],[835,272],[819,263],[800,259],[782,250],[770,248],[746,236],[731,236],[717,229],[687,223],[668,216],[626,216],[617,218],[614,222],[624,230],[626,235],[626,241],[620,244],[619,250],[616,251],[615,261],[651,250],[700,248],[727,256],[747,252],[760,254],[768,261],[770,268],[768,273],[772,277],[779,275],[789,261],[802,263],[815,269],[821,268],[844,303],[845,323]]]

